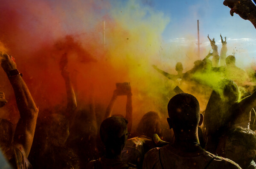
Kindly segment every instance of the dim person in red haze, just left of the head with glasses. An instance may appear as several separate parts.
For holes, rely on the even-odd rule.
[[[96,149],[98,126],[93,97],[90,96],[89,106],[79,103],[81,102],[78,102],[76,118],[70,127],[66,145],[78,155],[80,168],[83,169],[90,160],[98,157]],[[90,108],[89,110],[87,106]]]

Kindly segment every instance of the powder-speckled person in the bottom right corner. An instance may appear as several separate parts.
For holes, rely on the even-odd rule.
[[[226,158],[238,163],[243,169],[256,169],[256,134],[250,129],[237,127],[227,132]]]

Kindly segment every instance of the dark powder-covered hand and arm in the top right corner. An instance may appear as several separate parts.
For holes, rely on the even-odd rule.
[[[223,4],[228,6],[231,16],[234,13],[244,20],[249,20],[256,28],[256,6],[251,0],[224,0]]]

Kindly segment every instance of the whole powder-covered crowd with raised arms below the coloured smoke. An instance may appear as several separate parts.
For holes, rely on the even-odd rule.
[[[224,0],[230,14],[237,13],[256,27],[256,6],[250,0]],[[59,68],[63,77],[67,105],[44,110],[38,119],[32,95],[12,56],[0,52],[0,63],[15,93],[20,119],[17,125],[0,119],[0,168],[3,169],[256,169],[256,92],[255,76],[236,66],[236,57],[227,56],[227,39],[221,37],[218,54],[215,39],[207,36],[212,53],[183,73],[178,62],[176,74],[153,68],[172,81],[189,81],[211,89],[206,109],[200,110],[193,93],[177,95],[168,103],[167,121],[159,112],[143,115],[133,127],[132,89],[130,83],[116,83],[105,115],[96,115],[93,97],[90,111],[77,109],[78,103],[68,71],[67,53]],[[210,60],[210,58],[212,58]],[[218,84],[204,83],[198,74],[218,74]],[[119,96],[126,96],[125,116],[113,114]],[[134,96],[136,97],[136,95]],[[0,92],[0,107],[8,104]],[[163,132],[163,124],[169,130]],[[132,137],[130,137],[130,135]]]

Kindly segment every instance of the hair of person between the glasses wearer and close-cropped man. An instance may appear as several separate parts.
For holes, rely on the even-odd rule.
[[[154,134],[160,134],[160,117],[157,112],[147,112],[141,118],[137,132],[139,135],[145,134],[152,137]]]

